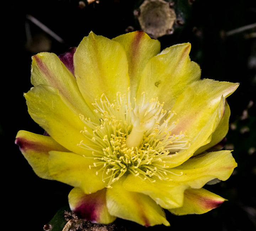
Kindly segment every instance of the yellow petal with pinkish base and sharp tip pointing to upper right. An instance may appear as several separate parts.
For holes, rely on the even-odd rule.
[[[196,137],[219,106],[222,96],[225,99],[236,88],[238,88],[237,83],[212,79],[203,79],[192,83],[182,92],[172,107],[172,111],[176,112],[172,119],[179,120],[175,127],[176,133],[187,131],[190,139]]]

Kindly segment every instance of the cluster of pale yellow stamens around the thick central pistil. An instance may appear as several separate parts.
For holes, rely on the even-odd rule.
[[[112,103],[104,94],[95,100],[94,112],[100,118],[99,124],[80,115],[85,123],[81,133],[94,143],[78,144],[92,151],[95,162],[90,168],[101,167],[96,174],[102,171],[102,180],[109,187],[128,173],[143,180],[155,181],[155,177],[171,180],[166,177],[167,172],[171,173],[170,157],[189,146],[184,133],[171,132],[177,123],[171,122],[174,113],[167,113],[164,103],[154,98],[139,105],[134,99],[132,107],[129,89],[127,95],[118,92],[116,96]]]

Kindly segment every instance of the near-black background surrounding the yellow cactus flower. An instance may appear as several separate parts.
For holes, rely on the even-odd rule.
[[[113,38],[140,29],[133,11],[141,1],[100,0],[79,8],[76,0],[9,1],[2,7],[2,85],[1,85],[1,147],[2,147],[2,207],[5,230],[43,230],[57,212],[65,206],[70,186],[43,180],[32,171],[14,144],[18,130],[42,133],[27,113],[23,92],[31,88],[31,56],[39,51],[57,54],[78,46],[92,30]],[[221,207],[203,215],[174,216],[166,212],[170,227],[145,229],[123,221],[127,230],[256,230],[256,28],[225,36],[225,32],[256,23],[253,0],[187,0],[175,1],[175,11],[181,13],[184,24],[174,26],[174,33],[159,38],[162,49],[190,42],[191,60],[202,68],[202,78],[239,82],[240,86],[228,98],[231,107],[231,129],[225,149],[233,149],[238,167],[229,180],[207,186],[210,191],[228,199]],[[64,43],[60,43],[27,19],[32,15]],[[30,43],[26,29],[32,36]],[[39,38],[39,39],[38,39]],[[4,229],[3,229],[4,230]]]

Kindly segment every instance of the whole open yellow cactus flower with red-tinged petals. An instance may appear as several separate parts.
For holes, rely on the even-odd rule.
[[[190,49],[160,52],[141,31],[91,32],[72,62],[33,56],[25,98],[49,136],[22,130],[16,144],[39,177],[74,187],[69,204],[81,218],[169,225],[164,209],[201,214],[225,201],[202,187],[236,167],[230,151],[207,150],[228,131],[226,97],[238,84],[201,80]]]

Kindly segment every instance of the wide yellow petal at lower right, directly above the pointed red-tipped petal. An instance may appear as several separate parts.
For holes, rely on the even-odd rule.
[[[201,188],[215,178],[227,180],[236,166],[231,151],[209,152],[190,158],[182,165],[169,169],[170,172],[166,171],[166,177],[176,184]]]

